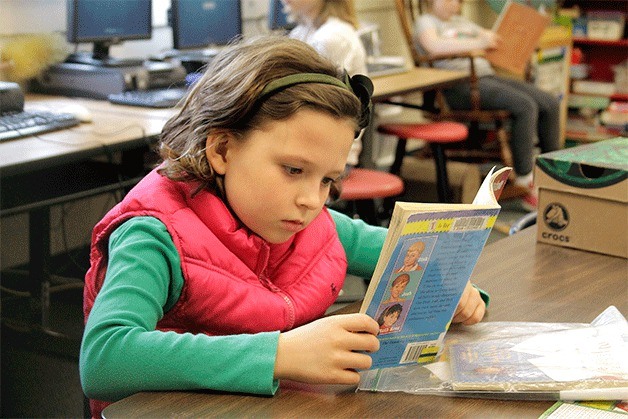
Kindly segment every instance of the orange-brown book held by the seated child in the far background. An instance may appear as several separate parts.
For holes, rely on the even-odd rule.
[[[507,2],[493,27],[500,37],[499,44],[486,52],[486,59],[496,67],[522,76],[549,22],[549,16],[532,7]]]

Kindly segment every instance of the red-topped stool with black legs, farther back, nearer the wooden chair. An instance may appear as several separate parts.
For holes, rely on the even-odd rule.
[[[390,173],[399,175],[406,154],[408,140],[423,140],[430,144],[436,163],[436,188],[440,202],[451,202],[452,193],[447,175],[447,159],[444,145],[465,141],[469,135],[466,125],[459,122],[428,122],[424,124],[382,124],[377,127],[382,134],[397,137],[395,161]]]

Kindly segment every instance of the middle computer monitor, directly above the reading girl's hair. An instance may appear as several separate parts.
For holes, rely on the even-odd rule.
[[[239,0],[172,0],[170,18],[178,51],[226,45],[242,34]]]

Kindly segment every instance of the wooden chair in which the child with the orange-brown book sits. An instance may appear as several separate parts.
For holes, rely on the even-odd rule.
[[[469,138],[465,147],[456,152],[450,152],[450,157],[461,160],[485,160],[495,159],[501,160],[504,165],[512,166],[512,153],[508,143],[509,135],[505,127],[505,123],[510,119],[510,112],[507,110],[484,110],[480,108],[480,91],[478,85],[478,77],[475,73],[473,58],[478,54],[452,54],[438,57],[427,56],[422,54],[414,46],[413,28],[416,19],[422,13],[423,0],[395,0],[397,15],[401,23],[401,29],[406,43],[412,54],[412,59],[416,66],[433,67],[435,60],[468,58],[471,67],[471,75],[469,83],[471,85],[471,109],[453,110],[447,105],[445,97],[441,90],[428,92],[424,95],[423,104],[414,105],[403,102],[389,102],[396,105],[418,108],[424,111],[425,116],[434,121],[457,121],[465,123],[469,126]],[[489,124],[494,127],[495,137],[498,143],[498,149],[490,149],[487,144],[480,138],[480,125]]]

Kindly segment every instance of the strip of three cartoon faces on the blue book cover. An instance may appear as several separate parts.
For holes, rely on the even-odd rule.
[[[401,247],[375,319],[379,334],[398,332],[412,305],[437,236],[408,240]]]

